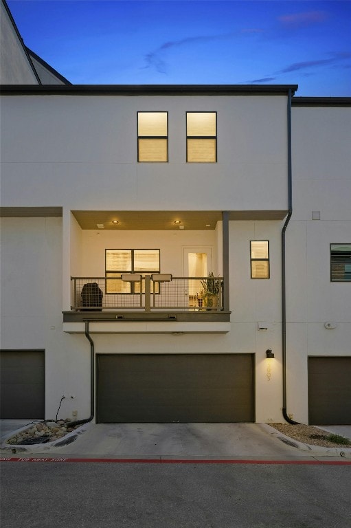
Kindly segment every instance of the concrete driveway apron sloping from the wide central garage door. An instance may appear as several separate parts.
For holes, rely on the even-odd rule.
[[[56,452],[121,458],[285,456],[291,448],[258,423],[98,423]]]

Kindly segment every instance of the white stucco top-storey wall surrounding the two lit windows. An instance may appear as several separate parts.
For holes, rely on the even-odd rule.
[[[154,109],[168,111],[169,162],[138,164],[137,111]],[[186,164],[185,112],[209,109],[218,163]],[[286,209],[284,96],[3,97],[1,135],[4,205]]]

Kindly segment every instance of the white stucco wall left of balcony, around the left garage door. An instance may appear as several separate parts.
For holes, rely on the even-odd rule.
[[[63,332],[62,219],[1,219],[1,349],[45,350],[45,417],[90,415],[90,345]],[[71,399],[71,395],[74,396]],[[35,417],[34,417],[35,418]]]

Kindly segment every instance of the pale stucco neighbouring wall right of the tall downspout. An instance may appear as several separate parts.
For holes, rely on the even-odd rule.
[[[350,106],[293,107],[286,357],[288,409],[304,422],[308,356],[351,354],[351,284],[330,281],[330,243],[351,241],[350,144]],[[320,212],[320,220],[312,219],[313,211]],[[326,329],[326,322],[337,327]]]

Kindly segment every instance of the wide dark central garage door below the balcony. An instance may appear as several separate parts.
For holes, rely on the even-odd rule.
[[[254,421],[251,354],[97,356],[99,422]]]

